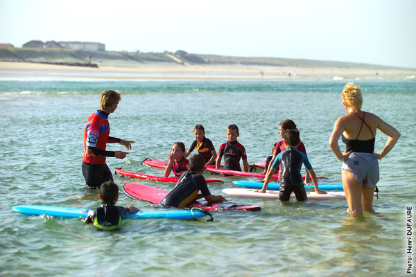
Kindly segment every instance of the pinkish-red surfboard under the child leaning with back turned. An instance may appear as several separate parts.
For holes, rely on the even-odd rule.
[[[144,200],[152,204],[159,204],[159,202],[161,202],[169,192],[168,190],[162,190],[160,188],[154,188],[143,184],[128,183],[123,186],[123,193],[132,199]],[[208,202],[206,201],[196,201],[187,206],[187,208],[192,207],[203,208],[209,211],[261,211],[260,206],[236,204],[232,202],[214,203],[211,204],[211,206],[208,206]]]

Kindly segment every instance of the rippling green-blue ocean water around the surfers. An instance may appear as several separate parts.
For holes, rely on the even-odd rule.
[[[281,204],[225,195],[262,211],[218,212],[214,222],[126,220],[118,231],[105,232],[81,219],[25,216],[11,209],[100,204],[98,192],[85,187],[81,159],[85,120],[98,109],[103,89],[122,95],[109,118],[111,136],[135,141],[124,160],[107,159],[113,171],[162,175],[141,161],[166,160],[175,141],[188,148],[196,124],[205,126],[216,150],[227,141],[227,125],[238,125],[248,162],[263,161],[280,140],[279,122],[291,118],[317,175],[340,184],[341,165],[328,140],[336,118],[345,113],[340,91],[349,81],[363,89],[363,110],[401,132],[380,163],[380,194],[374,199],[380,215],[352,219],[345,200]],[[408,79],[0,80],[0,276],[406,276],[408,256],[415,257],[406,253],[406,206],[416,207],[415,107],[416,82]],[[378,132],[376,151],[386,139]],[[236,179],[242,178],[210,184],[211,193],[234,187]],[[120,188],[131,181],[173,188],[119,176],[114,181]],[[122,192],[118,204],[155,209]]]

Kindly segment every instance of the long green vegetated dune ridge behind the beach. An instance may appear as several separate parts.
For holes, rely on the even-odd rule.
[[[302,68],[339,68],[339,69],[401,69],[395,66],[357,64],[353,62],[331,62],[320,60],[284,59],[278,57],[234,57],[224,55],[190,54],[184,51],[176,53],[139,53],[116,51],[83,51],[67,48],[0,48],[0,61],[7,62],[68,62],[87,63],[89,56],[96,64],[242,64],[259,66],[289,66]]]

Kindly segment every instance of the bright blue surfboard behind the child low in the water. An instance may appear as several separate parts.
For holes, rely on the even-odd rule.
[[[24,215],[50,215],[53,217],[76,218],[86,217],[89,209],[84,208],[67,208],[58,206],[42,205],[21,205],[13,206],[12,210]],[[149,218],[170,218],[173,220],[191,220],[197,217],[203,217],[202,213],[196,209],[193,210],[164,210],[164,211],[138,211],[137,213],[125,215],[123,219],[149,219]]]

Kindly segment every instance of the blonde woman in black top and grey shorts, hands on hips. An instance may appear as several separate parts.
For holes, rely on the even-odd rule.
[[[400,133],[379,116],[361,110],[363,96],[358,85],[346,84],[341,98],[347,114],[336,120],[329,146],[338,161],[343,161],[343,188],[349,213],[362,216],[363,211],[374,213],[372,201],[374,187],[379,181],[378,159],[385,157],[392,150]],[[379,153],[374,152],[377,129],[388,136],[383,150]],[[346,145],[344,153],[338,145],[340,136]]]

